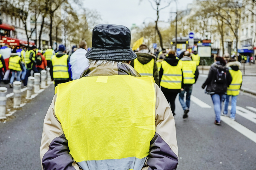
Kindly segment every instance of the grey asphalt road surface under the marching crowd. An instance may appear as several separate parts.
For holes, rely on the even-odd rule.
[[[256,108],[256,97],[241,93],[237,105],[243,112],[238,111],[240,114],[236,116],[236,123],[230,124],[228,119],[223,119],[221,126],[216,126],[212,100],[201,88],[204,80],[205,77],[200,76],[194,85],[188,119],[182,119],[182,107],[176,99],[178,169],[255,170],[256,139],[253,135],[256,136],[256,119],[253,116],[256,116],[256,112],[250,112],[246,106]],[[41,169],[39,148],[42,123],[53,95],[51,85],[17,111],[16,118],[5,124],[0,123],[1,170]],[[241,129],[238,129],[240,132],[235,130],[237,127]],[[252,134],[251,139],[246,137],[248,131]]]

